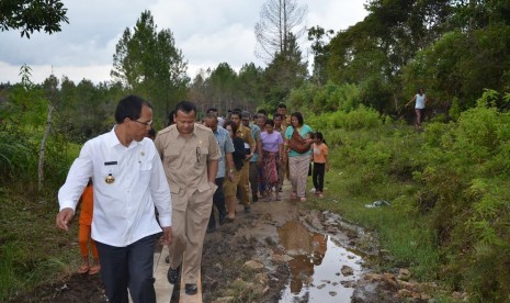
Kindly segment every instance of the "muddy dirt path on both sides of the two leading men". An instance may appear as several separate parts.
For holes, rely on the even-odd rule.
[[[427,299],[397,273],[370,273],[376,240],[329,212],[290,201],[253,203],[207,234],[203,302],[416,302]],[[161,248],[159,248],[161,249]],[[158,254],[158,251],[156,251]],[[165,257],[165,256],[161,256]],[[178,302],[174,292],[171,302]],[[15,302],[105,302],[99,276],[73,274],[20,294]]]

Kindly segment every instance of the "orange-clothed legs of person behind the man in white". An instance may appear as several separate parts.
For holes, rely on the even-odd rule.
[[[80,229],[78,231],[78,243],[80,244],[81,257],[83,263],[78,269],[78,273],[95,274],[100,272],[98,248],[95,242],[90,237],[94,194],[92,189],[92,179],[89,180],[83,193],[81,194]],[[89,263],[89,243],[94,258],[92,266]]]

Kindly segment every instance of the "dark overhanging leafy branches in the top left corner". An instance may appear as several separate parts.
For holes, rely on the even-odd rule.
[[[21,30],[21,36],[34,31],[53,34],[60,32],[60,23],[69,23],[67,9],[60,0],[2,0],[0,1],[0,30]]]

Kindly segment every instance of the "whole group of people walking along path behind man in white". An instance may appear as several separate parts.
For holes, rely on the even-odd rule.
[[[185,293],[196,294],[204,236],[216,229],[213,204],[219,225],[233,222],[238,197],[246,212],[259,195],[281,201],[286,177],[291,199],[305,202],[311,159],[316,194],[322,197],[328,148],[299,112],[288,117],[281,104],[272,119],[239,110],[222,119],[209,109],[203,123],[196,114],[192,102],[178,103],[172,125],[152,143],[146,137],[150,103],[126,97],[115,110],[116,125],[84,144],[59,190],[56,225],[67,231],[89,179],[94,182],[91,235],[109,302],[128,302],[127,289],[134,302],[156,302],[156,234],[169,245],[169,282],[182,274]]]

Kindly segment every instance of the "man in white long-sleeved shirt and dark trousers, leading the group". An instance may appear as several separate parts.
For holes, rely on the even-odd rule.
[[[92,238],[101,260],[101,277],[110,302],[156,302],[155,234],[171,240],[171,197],[152,141],[150,103],[137,96],[121,100],[116,125],[88,141],[58,192],[57,227],[68,231],[89,177],[94,182]],[[155,205],[159,212],[156,221]],[[161,225],[161,227],[159,226]]]

